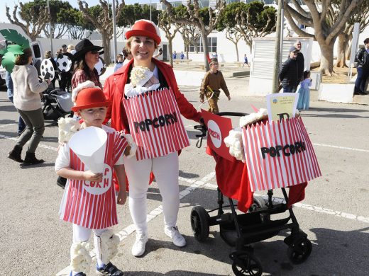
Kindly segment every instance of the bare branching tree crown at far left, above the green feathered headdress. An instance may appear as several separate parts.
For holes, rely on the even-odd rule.
[[[14,6],[13,9],[13,18],[9,13],[9,6],[5,6],[6,8],[6,17],[9,22],[21,27],[21,29],[28,35],[31,41],[35,41],[38,38],[38,35],[45,28],[45,25],[50,21],[50,16],[48,13],[48,7],[46,6],[38,6],[37,11],[26,11],[26,7],[22,2],[19,2],[19,6],[21,7],[21,11],[19,12],[20,17],[25,23],[19,21],[17,17],[18,5]]]

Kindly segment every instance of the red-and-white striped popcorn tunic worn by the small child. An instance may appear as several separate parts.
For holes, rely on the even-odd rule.
[[[89,229],[104,229],[118,224],[116,195],[112,185],[113,167],[118,163],[128,142],[111,127],[103,125],[102,130],[107,134],[102,182],[68,180],[60,207],[60,219]],[[70,149],[69,144],[60,149],[55,166],[59,163],[70,163],[70,168],[77,171],[89,169]]]

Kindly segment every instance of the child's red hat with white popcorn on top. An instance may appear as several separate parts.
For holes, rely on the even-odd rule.
[[[101,88],[94,86],[94,83],[83,83],[73,89],[72,100],[75,101],[75,106],[72,110],[77,112],[81,109],[98,108],[101,106],[110,106],[111,101],[106,100],[104,92]],[[86,87],[87,86],[87,87]]]

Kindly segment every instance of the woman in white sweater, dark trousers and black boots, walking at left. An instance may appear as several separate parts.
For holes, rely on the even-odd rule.
[[[24,165],[43,163],[43,159],[36,159],[35,150],[40,139],[43,137],[45,125],[43,111],[41,110],[40,93],[45,91],[50,80],[38,81],[37,69],[31,65],[31,48],[23,50],[23,54],[16,57],[15,67],[11,73],[13,79],[13,101],[19,115],[26,122],[26,130],[21,134],[16,142],[16,146],[9,152],[8,158]],[[30,142],[24,161],[21,159],[23,146]]]

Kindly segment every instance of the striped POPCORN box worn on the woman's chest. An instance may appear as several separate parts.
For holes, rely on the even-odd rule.
[[[137,159],[165,156],[189,146],[171,89],[123,99],[129,127],[138,146]]]

